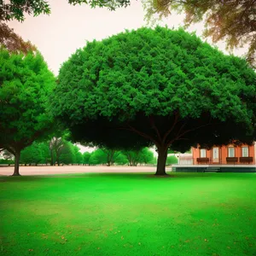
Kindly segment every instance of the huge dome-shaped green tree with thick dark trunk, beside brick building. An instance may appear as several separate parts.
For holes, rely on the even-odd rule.
[[[195,34],[141,28],[78,49],[61,67],[52,111],[81,143],[154,144],[164,175],[168,148],[253,140],[255,78]]]

